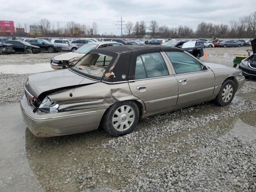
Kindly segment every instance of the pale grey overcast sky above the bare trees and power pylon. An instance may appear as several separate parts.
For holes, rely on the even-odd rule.
[[[68,21],[91,25],[99,33],[120,34],[116,24],[156,20],[169,27],[198,23],[227,23],[256,11],[256,0],[1,0],[0,20],[36,24],[41,18],[65,25]]]

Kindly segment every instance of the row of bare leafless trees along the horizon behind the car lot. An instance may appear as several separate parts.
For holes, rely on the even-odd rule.
[[[73,37],[112,37],[117,38],[113,33],[98,33],[98,24],[93,22],[91,26],[80,24],[74,21],[67,22],[61,26],[51,23],[43,18],[37,25],[42,28],[42,36],[73,36]],[[36,25],[35,24],[35,25]],[[16,27],[24,27],[26,32],[29,31],[28,24],[16,24]],[[126,34],[122,37],[126,38],[255,38],[256,37],[256,12],[252,12],[248,16],[231,20],[228,24],[213,24],[212,22],[200,22],[193,30],[189,26],[178,26],[170,28],[167,25],[159,25],[156,20],[151,20],[147,26],[144,20],[135,23],[128,21],[125,25]]]

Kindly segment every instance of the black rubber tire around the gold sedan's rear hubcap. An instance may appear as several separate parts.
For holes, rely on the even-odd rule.
[[[113,118],[115,118],[114,117],[115,112],[122,106],[124,106],[124,107],[129,106],[130,108],[132,108],[132,110],[134,112],[134,121],[132,122],[130,127],[127,128],[126,130],[117,130],[116,128],[114,128],[114,125],[113,125],[114,123],[112,123],[112,120],[113,120]],[[116,102],[112,106],[110,106],[110,108],[108,108],[106,110],[106,112],[102,118],[102,127],[104,128],[104,130],[106,132],[108,132],[112,136],[122,136],[122,135],[128,134],[134,130],[134,128],[138,124],[139,118],[140,118],[140,112],[139,112],[139,108],[135,102],[130,101],[130,100]],[[126,119],[126,122],[128,122],[127,119]]]

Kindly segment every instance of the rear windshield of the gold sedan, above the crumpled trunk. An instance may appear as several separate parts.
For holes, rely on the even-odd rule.
[[[112,56],[100,53],[88,53],[72,69],[100,80],[111,60]]]

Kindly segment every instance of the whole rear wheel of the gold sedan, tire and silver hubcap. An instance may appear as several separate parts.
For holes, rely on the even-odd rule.
[[[116,102],[104,114],[102,126],[113,136],[125,135],[134,130],[139,116],[139,108],[135,102]]]

